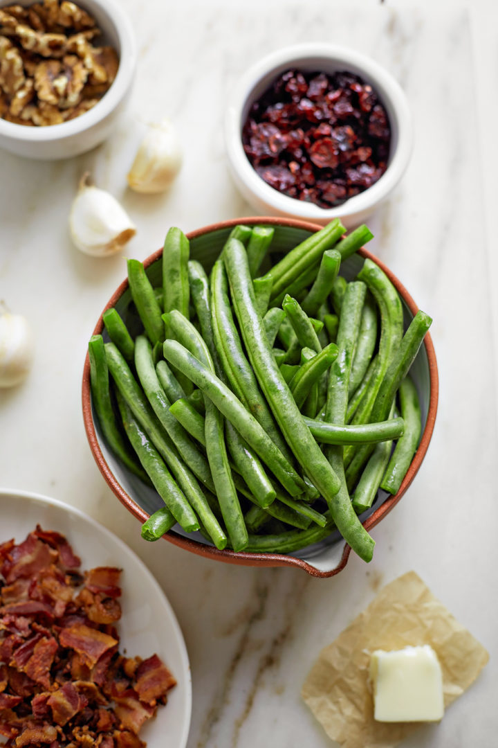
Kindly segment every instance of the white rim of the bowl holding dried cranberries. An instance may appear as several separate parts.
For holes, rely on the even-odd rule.
[[[243,109],[261,79],[270,76],[271,73],[277,75],[285,67],[292,67],[311,58],[337,61],[361,70],[364,77],[371,80],[373,87],[379,91],[380,99],[390,109],[391,118],[394,116],[391,131],[396,133],[396,147],[390,156],[385,173],[371,187],[354,197],[349,197],[345,203],[334,208],[322,208],[314,203],[296,200],[270,187],[249,162],[240,137]],[[385,67],[363,52],[329,43],[308,42],[286,46],[257,61],[243,73],[231,91],[225,110],[224,129],[228,162],[236,179],[240,180],[257,200],[267,203],[274,210],[310,221],[332,220],[371,210],[374,205],[384,200],[399,182],[408,165],[413,147],[411,111],[405,93],[396,79]]]

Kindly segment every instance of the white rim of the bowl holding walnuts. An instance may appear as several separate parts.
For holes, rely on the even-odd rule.
[[[0,8],[6,4],[9,4],[9,0],[0,0]],[[19,4],[29,5],[32,4],[32,0],[19,0]],[[116,0],[81,0],[80,4],[90,12],[93,7],[98,7],[116,32],[119,39],[119,65],[116,78],[95,106],[68,122],[44,127],[30,127],[16,122],[7,122],[0,117],[0,138],[40,144],[71,138],[105,120],[119,106],[128,91],[137,64],[137,44],[128,14]]]

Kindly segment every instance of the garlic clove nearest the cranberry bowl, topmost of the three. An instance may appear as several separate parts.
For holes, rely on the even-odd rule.
[[[164,192],[181,168],[181,145],[169,120],[149,126],[128,174],[128,184],[137,192]]]

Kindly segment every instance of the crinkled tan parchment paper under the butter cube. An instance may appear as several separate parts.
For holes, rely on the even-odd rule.
[[[392,748],[421,723],[373,719],[368,669],[375,649],[430,644],[443,671],[445,708],[476,679],[489,654],[432,595],[414,571],[387,584],[363,613],[320,652],[302,698],[344,748]]]

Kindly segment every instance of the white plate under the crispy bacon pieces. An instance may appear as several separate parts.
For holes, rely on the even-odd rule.
[[[119,652],[128,657],[158,654],[175,676],[166,706],[140,731],[148,748],[187,744],[192,681],[187,648],[175,613],[163,590],[143,562],[122,540],[72,506],[39,494],[0,489],[0,542],[19,543],[37,524],[66,536],[81,558],[81,568],[122,568],[122,617],[118,623]]]

